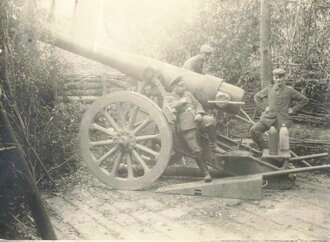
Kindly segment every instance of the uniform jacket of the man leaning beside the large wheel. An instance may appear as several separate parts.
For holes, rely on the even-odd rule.
[[[186,98],[187,103],[182,104],[181,100]],[[170,93],[165,97],[164,106],[174,110],[176,116],[176,126],[178,132],[187,131],[196,128],[196,114],[205,114],[202,105],[192,95],[186,91],[181,97]]]

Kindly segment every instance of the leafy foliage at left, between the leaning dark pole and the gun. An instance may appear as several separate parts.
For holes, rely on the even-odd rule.
[[[75,169],[80,108],[57,100],[62,92],[65,62],[50,45],[37,41],[47,16],[32,1],[8,1],[8,45],[5,88],[7,112],[36,180],[46,178],[42,163],[54,175]],[[12,95],[11,95],[12,93]],[[16,104],[21,119],[12,108]],[[64,165],[61,165],[63,164]],[[61,174],[62,175],[62,174]]]

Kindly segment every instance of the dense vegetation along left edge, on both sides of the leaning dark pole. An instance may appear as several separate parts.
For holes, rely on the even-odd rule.
[[[35,30],[42,29],[46,16],[31,4],[0,3],[1,102],[38,185],[54,185],[56,177],[76,167],[80,112],[77,105],[64,106],[57,100],[65,63],[53,47],[37,41],[40,33]],[[33,229],[30,233],[24,226],[32,220],[25,216],[29,208],[21,188],[23,177],[14,164],[1,166],[1,238],[33,238]]]

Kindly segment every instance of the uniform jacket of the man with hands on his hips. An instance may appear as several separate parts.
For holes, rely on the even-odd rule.
[[[254,96],[257,106],[261,106],[262,100],[266,97],[268,98],[269,111],[264,111],[262,113],[260,121],[268,127],[274,124],[277,125],[278,128],[281,127],[282,124],[290,127],[291,120],[288,112],[290,105],[292,105],[294,101],[296,102],[291,108],[293,113],[297,113],[308,103],[308,98],[286,85],[281,87],[270,85],[258,92]]]

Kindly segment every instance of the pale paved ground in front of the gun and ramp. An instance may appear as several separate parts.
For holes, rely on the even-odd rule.
[[[330,240],[330,175],[298,174],[262,200],[155,193],[196,178],[162,177],[144,191],[113,190],[86,168],[44,194],[61,240]]]

